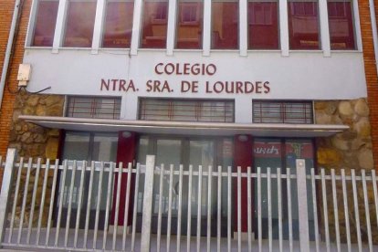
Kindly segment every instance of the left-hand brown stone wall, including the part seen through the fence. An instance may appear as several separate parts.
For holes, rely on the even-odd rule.
[[[21,92],[16,96],[15,101],[15,111],[12,118],[11,133],[9,137],[9,147],[16,148],[18,152],[18,157],[26,158],[41,158],[41,162],[45,163],[46,159],[54,161],[58,158],[58,142],[59,142],[59,131],[54,129],[46,129],[37,126],[32,123],[27,123],[25,121],[20,121],[18,116],[24,115],[37,115],[37,116],[62,116],[64,106],[64,97],[54,96],[54,95],[37,95],[28,94],[25,91]],[[27,162],[27,161],[26,161]],[[33,163],[37,163],[34,160]],[[51,162],[53,164],[53,162]],[[33,217],[34,225],[37,224],[36,213],[39,213],[39,207],[42,197],[42,186],[44,180],[44,170],[38,176],[37,181],[37,194],[36,194],[36,207],[35,215]],[[33,186],[35,184],[36,169],[31,171],[30,181],[28,183],[26,198],[26,214],[23,221],[24,225],[29,223],[30,216],[30,206],[32,205],[31,194],[33,192]],[[51,188],[53,183],[53,172],[50,171],[47,178],[47,192],[46,198],[49,199],[51,196]],[[21,188],[20,192],[24,192],[24,186],[26,184],[26,171],[22,173],[21,177]],[[15,188],[13,188],[15,190]],[[19,216],[21,215],[21,205],[23,198],[17,198],[16,206],[16,226],[20,221]],[[42,225],[47,224],[47,213],[49,208],[49,201],[46,201],[44,207],[44,213],[42,218]]]

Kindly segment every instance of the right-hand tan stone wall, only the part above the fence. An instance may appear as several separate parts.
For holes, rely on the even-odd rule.
[[[369,107],[366,100],[317,101],[317,124],[344,124],[349,131],[317,139],[318,165],[324,168],[374,168]]]

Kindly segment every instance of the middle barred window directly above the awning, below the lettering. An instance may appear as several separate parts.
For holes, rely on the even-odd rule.
[[[139,119],[151,121],[234,121],[233,100],[140,100]]]

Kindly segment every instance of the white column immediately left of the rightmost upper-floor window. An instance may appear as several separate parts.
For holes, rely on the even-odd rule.
[[[320,43],[324,57],[331,57],[327,0],[319,0]]]

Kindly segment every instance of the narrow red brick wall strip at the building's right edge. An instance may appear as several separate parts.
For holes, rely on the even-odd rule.
[[[378,78],[374,57],[373,32],[370,18],[369,0],[361,0],[360,22],[362,32],[363,60],[368,90],[370,121],[372,126],[374,167],[378,170]],[[378,14],[378,1],[375,0],[375,12]]]

